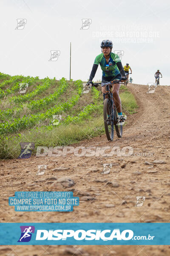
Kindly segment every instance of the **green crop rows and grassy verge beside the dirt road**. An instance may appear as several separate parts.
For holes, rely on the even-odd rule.
[[[4,79],[10,80],[10,77],[4,76]],[[18,95],[18,87],[6,101],[1,99],[0,159],[18,157],[20,142],[33,142],[34,154],[37,146],[70,145],[105,133],[103,97],[99,90],[93,87],[89,93],[82,93],[81,80],[62,78],[56,81],[48,77],[20,80],[26,82],[28,79],[32,91]],[[11,87],[8,84],[4,93],[18,82],[11,83]],[[135,113],[137,104],[127,87],[121,86],[120,97],[123,112],[126,115]],[[58,125],[53,124],[54,115],[62,116]]]

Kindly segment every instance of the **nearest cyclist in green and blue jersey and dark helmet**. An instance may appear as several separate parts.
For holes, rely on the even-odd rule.
[[[120,79],[122,81],[126,80],[125,71],[122,66],[122,62],[118,55],[111,52],[113,43],[110,40],[103,40],[100,44],[100,47],[102,48],[102,53],[97,55],[94,64],[91,70],[90,78],[88,81],[88,84],[93,84],[92,80],[94,79],[94,76],[96,74],[96,70],[98,68],[98,65],[100,64],[100,67],[102,69],[102,82],[109,82],[113,81],[113,79]],[[113,98],[115,100],[116,109],[118,111],[119,115],[119,121],[125,121],[124,116],[122,115],[122,106],[121,106],[121,100],[119,97],[119,88],[120,83],[116,83],[113,85],[112,93]],[[108,99],[108,95],[106,94],[106,85],[102,87],[102,93],[103,93],[103,99]]]

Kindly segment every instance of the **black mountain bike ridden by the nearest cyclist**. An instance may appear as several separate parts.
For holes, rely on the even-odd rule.
[[[116,130],[116,134],[118,138],[122,137],[123,134],[123,123],[119,122],[118,112],[116,110],[116,106],[113,99],[112,86],[121,80],[114,79],[111,82],[104,83],[93,83],[89,84],[90,87],[98,87],[106,85],[106,94],[108,95],[108,99],[105,99],[103,102],[103,117],[104,117],[104,125],[105,125],[105,133],[108,140],[113,140],[114,137],[114,126]],[[124,84],[124,82],[121,82]]]

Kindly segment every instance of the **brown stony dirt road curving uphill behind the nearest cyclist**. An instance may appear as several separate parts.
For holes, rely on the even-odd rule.
[[[2,222],[170,221],[170,87],[159,86],[155,93],[148,94],[147,86],[130,84],[128,87],[135,95],[139,109],[138,113],[128,116],[123,137],[118,139],[115,134],[113,142],[108,143],[106,136],[103,135],[82,141],[78,145],[85,147],[109,145],[120,148],[131,146],[133,155],[77,157],[70,154],[67,157],[33,156],[29,159],[2,161],[0,164]],[[164,162],[145,164],[154,160]],[[110,174],[101,174],[104,163],[112,163]],[[37,165],[41,164],[47,165],[47,170],[44,175],[36,175]],[[61,167],[66,169],[53,170],[62,169]],[[75,185],[70,188],[57,185],[57,180],[65,177],[74,180]],[[15,212],[14,207],[8,206],[8,197],[14,196],[15,191],[70,190],[74,192],[74,196],[80,198],[80,204],[74,207],[73,212]],[[145,197],[142,207],[135,207],[136,196]],[[91,197],[91,200],[88,200],[88,197]],[[170,255],[169,246],[70,246],[69,250],[72,251],[70,254],[67,252],[68,247],[1,246],[0,255]]]

